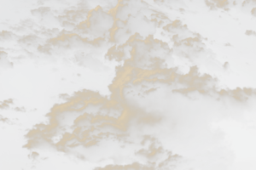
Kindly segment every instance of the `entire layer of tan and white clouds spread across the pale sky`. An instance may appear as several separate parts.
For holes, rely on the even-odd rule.
[[[154,3],[187,8],[177,0]],[[254,1],[205,3],[211,10],[240,8],[255,15]],[[0,42],[12,42],[19,51],[12,61],[0,51],[0,68],[13,68],[20,59],[36,65],[76,65],[94,73],[110,71],[106,61],[116,65],[109,95],[90,89],[59,94],[60,102],[45,115],[47,121],[25,135],[28,159],[36,163],[43,159],[41,152],[52,152],[79,161],[113,161],[94,170],[232,167],[235,154],[224,145],[225,133],[212,129],[211,123],[229,118],[241,122],[245,111],[256,111],[256,89],[219,85],[213,75],[229,75],[230,63],[217,59],[207,37],[148,8],[143,0],[38,4],[30,10],[32,18],[0,32]],[[224,46],[232,47],[230,42]],[[189,71],[181,71],[175,59]],[[25,107],[12,107],[13,101],[0,101],[0,110],[26,112]],[[2,115],[0,122],[11,124]]]

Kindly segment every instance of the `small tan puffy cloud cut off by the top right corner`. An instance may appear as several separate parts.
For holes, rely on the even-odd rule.
[[[230,8],[237,8],[246,14],[252,14],[256,17],[256,1],[255,0],[205,0],[210,10],[230,11]]]

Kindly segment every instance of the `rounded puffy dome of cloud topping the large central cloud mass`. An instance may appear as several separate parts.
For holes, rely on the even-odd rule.
[[[154,39],[153,35],[143,38],[135,33],[122,45],[114,45],[108,49],[106,59],[125,61],[124,65],[131,65],[140,68],[173,66],[173,50],[167,42]]]

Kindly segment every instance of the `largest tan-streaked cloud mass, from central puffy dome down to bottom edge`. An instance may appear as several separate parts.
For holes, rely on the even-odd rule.
[[[169,68],[172,49],[153,36],[136,33],[109,48],[106,58],[124,62],[108,86],[110,96],[87,89],[60,94],[64,102],[46,114],[49,122],[26,134],[24,148],[115,164],[96,170],[230,168],[234,154],[211,122],[240,121],[244,111],[256,111],[256,89],[219,88],[218,79],[196,65],[186,74]]]

